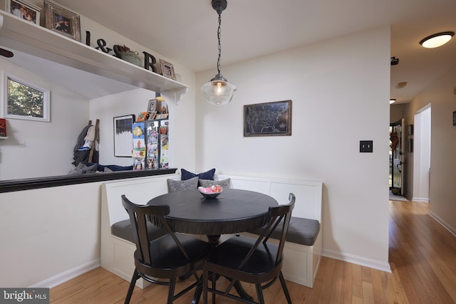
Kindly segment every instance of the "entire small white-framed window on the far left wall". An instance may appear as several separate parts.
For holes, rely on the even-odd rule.
[[[49,91],[5,75],[4,117],[49,122]]]

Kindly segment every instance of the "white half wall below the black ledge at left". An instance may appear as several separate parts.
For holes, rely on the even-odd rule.
[[[0,194],[0,286],[50,287],[100,265],[100,184]]]

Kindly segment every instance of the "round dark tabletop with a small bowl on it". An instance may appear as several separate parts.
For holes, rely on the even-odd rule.
[[[170,205],[165,219],[175,232],[218,235],[264,226],[269,206],[278,203],[266,194],[240,189],[223,189],[216,199],[204,199],[197,189],[192,189],[163,194],[147,204]]]

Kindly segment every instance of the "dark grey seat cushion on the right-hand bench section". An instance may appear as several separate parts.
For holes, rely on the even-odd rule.
[[[316,219],[303,219],[300,217],[291,216],[285,240],[291,243],[313,246],[319,231],[320,222]],[[250,231],[250,233],[260,234],[261,229]],[[281,227],[278,226],[276,230],[271,234],[271,238],[280,239],[280,234]]]

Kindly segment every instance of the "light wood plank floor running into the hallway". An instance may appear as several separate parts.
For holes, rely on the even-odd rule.
[[[287,281],[293,303],[456,303],[456,238],[427,215],[427,208],[424,203],[390,201],[392,273],[323,258],[314,288]],[[252,286],[245,288],[254,294]],[[127,281],[97,268],[51,288],[51,303],[123,303],[127,290]],[[166,303],[166,297],[167,287],[150,285],[135,288],[130,303]],[[279,282],[264,290],[264,297],[266,303],[286,303]],[[175,304],[191,298],[188,293]],[[217,298],[217,303],[235,302]]]

